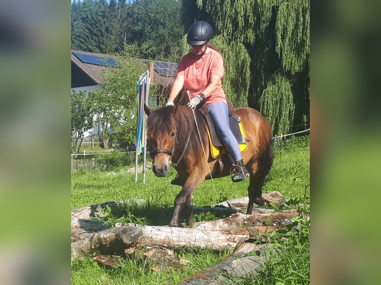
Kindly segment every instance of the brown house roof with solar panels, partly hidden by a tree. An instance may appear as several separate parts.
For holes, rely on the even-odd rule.
[[[72,88],[102,84],[101,71],[105,66],[115,67],[115,58],[110,55],[72,50]],[[177,64],[154,62],[150,67],[151,82],[168,87],[175,80],[176,71]]]

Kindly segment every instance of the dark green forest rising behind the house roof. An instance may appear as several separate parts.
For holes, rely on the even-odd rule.
[[[178,0],[75,0],[72,48],[107,54],[129,49],[136,58],[177,62],[181,7]]]

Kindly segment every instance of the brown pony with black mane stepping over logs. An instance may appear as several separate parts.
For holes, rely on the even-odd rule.
[[[178,179],[183,185],[183,189],[176,196],[175,211],[169,225],[178,226],[179,215],[184,208],[187,224],[192,227],[193,191],[205,179],[210,179],[210,172],[212,178],[230,175],[232,162],[228,155],[224,154],[222,173],[213,174],[212,169],[217,160],[210,155],[208,127],[199,111],[194,111],[193,117],[189,107],[178,104],[155,111],[144,105],[144,110],[148,115],[147,144],[153,159],[153,172],[158,177],[165,177],[172,160],[179,174]],[[254,203],[264,205],[267,202],[262,197],[262,186],[273,163],[271,130],[269,122],[255,109],[237,108],[234,109],[234,113],[241,117],[249,140],[242,158],[250,173],[246,214],[251,214]]]

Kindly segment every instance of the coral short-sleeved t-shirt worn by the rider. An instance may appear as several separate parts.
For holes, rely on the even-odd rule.
[[[217,88],[206,98],[205,103],[226,103],[225,91],[222,88],[224,65],[222,56],[215,50],[208,48],[208,52],[197,60],[193,52],[186,54],[179,63],[177,74],[184,75],[184,89],[189,88],[190,97],[197,96],[205,89],[210,75],[220,77]],[[188,95],[185,96],[188,102]]]

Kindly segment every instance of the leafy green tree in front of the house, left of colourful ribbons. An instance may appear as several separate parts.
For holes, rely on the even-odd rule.
[[[102,71],[103,88],[91,93],[96,122],[101,126],[102,147],[109,139],[134,143],[136,134],[137,79],[146,70],[141,60],[119,56],[118,68]]]

